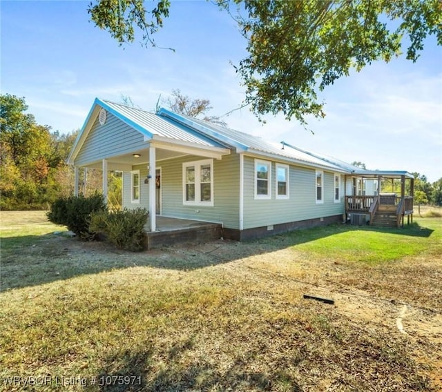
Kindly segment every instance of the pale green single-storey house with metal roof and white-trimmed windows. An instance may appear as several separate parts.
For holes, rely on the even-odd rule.
[[[222,235],[249,239],[294,228],[343,222],[399,226],[412,217],[413,176],[363,170],[285,142],[186,117],[157,114],[95,99],[68,157],[75,166],[123,172],[123,206],[159,219],[222,226]],[[381,195],[381,182],[400,182]],[[406,195],[406,190],[410,195]]]

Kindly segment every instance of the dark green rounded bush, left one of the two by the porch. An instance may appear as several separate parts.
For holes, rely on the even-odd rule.
[[[48,219],[55,224],[67,226],[81,239],[93,239],[95,231],[90,230],[90,215],[106,210],[103,196],[100,193],[84,197],[60,197],[50,206]]]

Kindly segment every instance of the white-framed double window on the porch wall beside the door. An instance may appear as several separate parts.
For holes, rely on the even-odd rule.
[[[213,159],[182,164],[182,202],[189,206],[213,206]]]

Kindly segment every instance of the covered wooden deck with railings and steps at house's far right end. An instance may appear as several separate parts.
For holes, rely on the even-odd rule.
[[[350,224],[400,227],[413,222],[414,177],[407,172],[345,176],[345,215]]]

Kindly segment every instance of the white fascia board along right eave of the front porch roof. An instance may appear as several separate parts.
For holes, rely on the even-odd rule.
[[[151,139],[144,137],[144,141],[147,141],[151,146],[163,148],[164,150],[173,150],[178,153],[192,155],[202,155],[203,157],[215,159],[221,159],[223,155],[229,155],[231,153],[229,148],[203,146],[189,141],[169,139],[168,137],[162,137],[159,135],[153,135]]]

